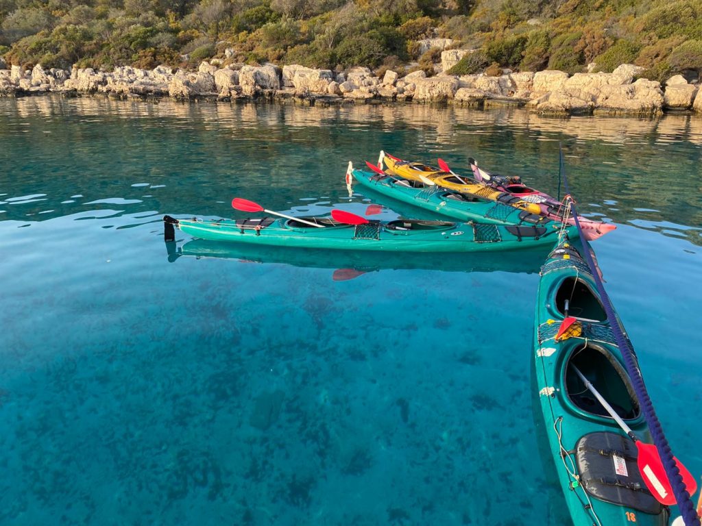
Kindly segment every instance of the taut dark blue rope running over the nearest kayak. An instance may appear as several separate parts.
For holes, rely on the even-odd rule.
[[[563,163],[563,151],[560,151],[560,163]],[[568,187],[568,178],[566,177],[565,170],[562,170],[563,184],[567,194],[570,194],[570,189]],[[631,346],[628,344],[627,338],[624,336],[621,327],[617,321],[614,314],[614,309],[609,301],[609,296],[604,290],[604,285],[600,279],[600,274],[597,273],[595,268],[595,262],[592,261],[592,255],[590,250],[588,250],[588,242],[585,241],[585,235],[583,234],[583,229],[581,229],[580,221],[578,221],[578,213],[576,211],[574,203],[571,199],[571,210],[575,220],[576,228],[578,229],[578,234],[580,235],[580,241],[583,244],[583,252],[585,252],[585,259],[588,262],[588,267],[590,267],[590,272],[592,277],[595,278],[595,285],[597,286],[597,292],[600,292],[600,297],[602,297],[602,306],[604,306],[604,311],[607,313],[607,319],[614,332],[614,339],[616,340],[619,349],[622,351],[622,356],[624,358],[624,364],[626,370],[631,377],[632,384],[634,386],[634,391],[639,399],[639,403],[644,413],[644,418],[649,426],[649,431],[651,432],[651,437],[654,439],[654,444],[658,450],[658,454],[661,455],[661,460],[663,461],[663,468],[665,468],[665,474],[670,480],[670,484],[673,487],[673,495],[675,495],[675,500],[677,501],[677,506],[680,508],[680,514],[685,522],[685,526],[701,526],[700,518],[695,511],[694,504],[690,499],[690,494],[685,489],[685,485],[682,482],[682,476],[680,476],[680,470],[675,465],[675,460],[673,460],[673,451],[668,445],[668,440],[663,434],[663,427],[661,422],[658,422],[658,417],[656,417],[656,410],[654,410],[654,405],[651,402],[649,393],[644,385],[644,379],[641,376],[641,370],[639,369],[635,354]]]

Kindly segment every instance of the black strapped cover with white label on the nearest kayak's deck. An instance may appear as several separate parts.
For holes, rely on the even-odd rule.
[[[644,483],[636,464],[638,450],[627,436],[588,433],[576,443],[575,454],[581,483],[590,496],[652,515],[663,511]]]

